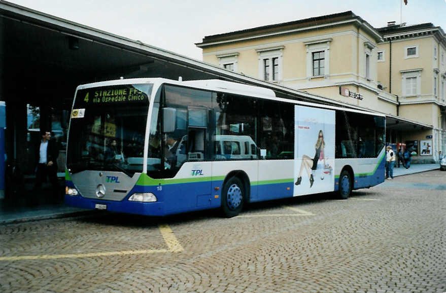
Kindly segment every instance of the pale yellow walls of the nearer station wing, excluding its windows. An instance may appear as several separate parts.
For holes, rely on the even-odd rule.
[[[203,47],[203,61],[222,66],[221,59],[236,54],[236,72],[245,76],[263,79],[259,70],[259,51],[268,48],[282,48],[283,64],[281,79],[272,81],[293,89],[304,90],[336,101],[378,110],[383,103],[378,99],[378,66],[376,51],[379,36],[363,30],[354,24],[297,31],[267,38],[245,39]],[[323,77],[313,77],[308,67],[308,51],[327,49]],[[366,68],[365,54],[369,55]],[[221,57],[223,56],[223,57]],[[369,74],[366,75],[366,69]],[[362,100],[341,96],[339,86],[346,86],[363,96]],[[396,113],[395,104],[389,104],[386,112]]]

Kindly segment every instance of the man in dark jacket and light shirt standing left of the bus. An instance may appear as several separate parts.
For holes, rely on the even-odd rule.
[[[57,181],[57,157],[59,155],[59,149],[57,142],[51,140],[51,132],[41,131],[42,139],[40,143],[37,144],[36,158],[37,158],[37,168],[36,168],[36,185],[35,190],[40,190],[42,187],[42,182],[46,181],[46,177],[50,179],[51,185],[53,187],[53,196],[58,198],[59,196],[59,184]]]

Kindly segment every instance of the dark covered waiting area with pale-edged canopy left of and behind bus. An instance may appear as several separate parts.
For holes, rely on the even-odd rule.
[[[25,205],[38,197],[31,189],[41,129],[52,131],[60,143],[57,165],[63,178],[68,120],[78,85],[143,77],[220,79],[269,88],[278,97],[337,104],[331,99],[0,1],[0,155],[5,156],[8,166],[3,176],[5,165],[0,164],[0,209],[6,197],[5,188],[11,197],[23,199],[21,203]],[[2,115],[5,109],[6,115]]]

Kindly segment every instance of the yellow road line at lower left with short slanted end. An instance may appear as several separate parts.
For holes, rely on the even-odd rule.
[[[167,224],[160,224],[158,228],[169,249],[143,249],[143,250],[125,250],[125,251],[109,251],[109,252],[90,252],[90,253],[74,253],[74,254],[42,254],[42,255],[22,255],[21,257],[0,257],[0,261],[21,261],[21,260],[54,260],[54,259],[76,259],[76,258],[93,258],[93,257],[109,257],[111,255],[128,255],[128,254],[149,254],[161,252],[181,252],[183,247],[178,242],[172,230]]]

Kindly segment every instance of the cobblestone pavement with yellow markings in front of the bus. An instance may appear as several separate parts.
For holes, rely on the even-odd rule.
[[[0,226],[0,291],[444,292],[446,172],[164,218]]]

